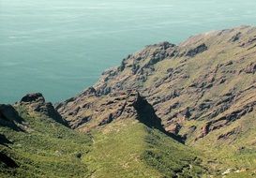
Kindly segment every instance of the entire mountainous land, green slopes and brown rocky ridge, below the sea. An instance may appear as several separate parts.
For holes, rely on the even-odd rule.
[[[80,95],[0,105],[1,177],[255,177],[256,28],[128,55]]]

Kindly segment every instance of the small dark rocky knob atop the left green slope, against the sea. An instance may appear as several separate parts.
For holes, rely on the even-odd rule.
[[[37,111],[40,114],[44,114],[47,117],[52,118],[54,121],[68,126],[66,120],[62,118],[58,111],[56,111],[51,102],[46,102],[45,98],[40,93],[27,94],[23,96],[21,101],[17,105],[28,107],[31,111]]]

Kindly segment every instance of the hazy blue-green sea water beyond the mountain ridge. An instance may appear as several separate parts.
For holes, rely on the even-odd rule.
[[[64,100],[145,45],[255,17],[255,0],[0,0],[0,103]]]

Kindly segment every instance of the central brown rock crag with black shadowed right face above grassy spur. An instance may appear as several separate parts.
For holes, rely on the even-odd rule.
[[[89,98],[90,102],[84,103],[80,97],[77,97],[72,103],[68,103],[75,106],[79,104],[77,108],[59,110],[72,128],[87,131],[88,128],[105,126],[114,120],[134,118],[146,126],[165,131],[153,106],[135,90],[119,92],[109,97],[89,96]]]

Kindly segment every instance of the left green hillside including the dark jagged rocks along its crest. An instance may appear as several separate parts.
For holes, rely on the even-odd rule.
[[[32,95],[30,95],[32,96]],[[15,104],[1,105],[0,121],[11,125],[0,126],[0,177],[89,177],[90,171],[81,160],[89,151],[91,139],[77,133],[35,106],[50,106],[43,96]]]

